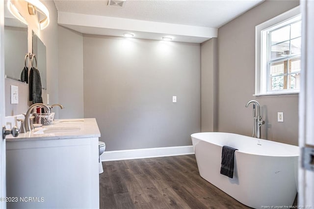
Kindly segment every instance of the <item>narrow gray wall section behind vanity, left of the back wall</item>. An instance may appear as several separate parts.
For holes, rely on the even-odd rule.
[[[58,26],[59,118],[83,118],[83,35]],[[58,108],[58,107],[56,107]]]

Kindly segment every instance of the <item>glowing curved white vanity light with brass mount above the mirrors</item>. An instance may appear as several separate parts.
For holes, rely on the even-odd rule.
[[[50,23],[49,10],[48,8],[39,0],[25,0],[27,2],[29,15],[35,15],[36,11],[43,14],[44,18],[39,21],[40,29],[46,28]],[[8,10],[11,14],[16,17],[22,23],[28,25],[25,18],[21,15],[20,11],[16,8],[11,0],[7,1]]]

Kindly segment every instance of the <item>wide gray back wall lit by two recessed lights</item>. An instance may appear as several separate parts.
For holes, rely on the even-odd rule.
[[[107,151],[191,145],[199,44],[84,35],[83,64],[84,116],[96,117]]]

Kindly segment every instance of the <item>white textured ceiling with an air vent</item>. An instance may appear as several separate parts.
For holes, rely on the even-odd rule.
[[[124,7],[108,0],[54,0],[59,12],[119,17],[190,26],[220,27],[263,0],[127,0]]]

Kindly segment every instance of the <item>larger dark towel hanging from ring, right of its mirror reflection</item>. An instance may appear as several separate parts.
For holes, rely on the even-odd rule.
[[[33,104],[43,103],[43,98],[41,96],[41,78],[39,70],[32,67],[29,70],[29,101]]]

